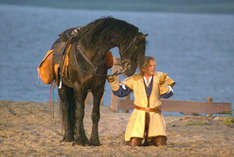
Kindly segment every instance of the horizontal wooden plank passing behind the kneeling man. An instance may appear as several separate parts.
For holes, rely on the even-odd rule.
[[[120,109],[123,111],[134,109],[132,100],[120,100]],[[182,112],[182,113],[223,113],[231,114],[231,103],[225,102],[195,102],[195,101],[180,101],[162,99],[163,112]]]

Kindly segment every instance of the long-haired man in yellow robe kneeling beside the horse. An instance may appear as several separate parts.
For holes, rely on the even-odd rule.
[[[166,145],[166,123],[161,114],[162,98],[173,95],[175,82],[166,73],[155,72],[156,62],[153,57],[145,57],[140,73],[134,74],[120,84],[112,75],[107,76],[112,92],[124,97],[130,92],[134,94],[136,108],[129,119],[125,142],[131,146],[153,144]]]

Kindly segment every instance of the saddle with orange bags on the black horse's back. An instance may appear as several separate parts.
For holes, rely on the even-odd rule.
[[[37,70],[41,80],[45,84],[58,85],[59,72],[62,76],[67,75],[69,65],[69,53],[72,47],[72,39],[78,37],[80,27],[68,29],[59,34],[59,39],[56,40],[50,50],[47,51],[45,57],[39,64]],[[111,51],[106,54],[106,64],[108,69],[113,66],[113,56]]]

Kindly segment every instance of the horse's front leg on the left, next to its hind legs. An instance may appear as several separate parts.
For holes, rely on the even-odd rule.
[[[87,92],[83,92],[79,89],[74,89],[74,99],[76,103],[76,110],[75,110],[75,135],[74,135],[74,144],[78,145],[85,145],[88,144],[88,138],[85,134],[84,130],[84,124],[83,124],[83,119],[85,115],[85,105],[84,105],[84,99],[87,95]]]

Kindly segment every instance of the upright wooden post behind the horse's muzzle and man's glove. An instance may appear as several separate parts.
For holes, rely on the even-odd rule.
[[[112,67],[112,74],[120,70],[120,58],[113,57],[114,65]],[[119,81],[120,76],[115,76],[115,80]],[[110,109],[114,112],[119,112],[119,98],[111,92]]]

